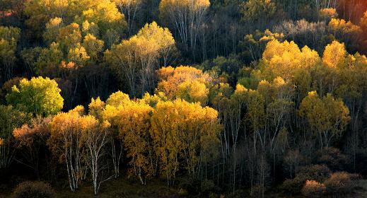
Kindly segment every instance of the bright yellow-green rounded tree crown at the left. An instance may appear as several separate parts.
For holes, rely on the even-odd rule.
[[[49,78],[24,78],[18,87],[13,86],[6,101],[33,115],[55,115],[64,106],[60,91],[56,81]]]

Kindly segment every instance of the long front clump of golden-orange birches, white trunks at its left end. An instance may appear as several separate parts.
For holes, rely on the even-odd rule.
[[[158,99],[145,95],[140,100],[113,93],[106,103],[96,99],[89,105],[56,115],[49,146],[61,163],[66,163],[71,190],[78,188],[90,168],[95,194],[106,180],[105,164],[112,154],[112,141],[120,140],[129,158],[129,176],[142,184],[162,175],[173,184],[175,173],[186,169],[194,175],[199,166],[216,156],[221,124],[218,112],[199,103]],[[108,177],[107,177],[108,178]]]

